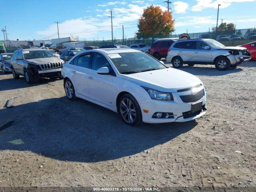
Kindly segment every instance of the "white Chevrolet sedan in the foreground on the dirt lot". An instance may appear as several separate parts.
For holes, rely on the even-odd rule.
[[[184,122],[206,113],[199,78],[141,51],[80,52],[63,65],[62,76],[68,99],[82,98],[118,112],[128,125]]]

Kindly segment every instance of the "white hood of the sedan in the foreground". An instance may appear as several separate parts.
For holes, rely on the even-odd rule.
[[[177,92],[178,89],[190,88],[202,84],[201,80],[187,72],[174,68],[124,74],[124,79],[147,88],[162,92]]]

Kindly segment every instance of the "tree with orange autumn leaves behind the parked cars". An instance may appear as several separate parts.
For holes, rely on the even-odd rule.
[[[174,32],[174,20],[172,12],[162,11],[159,6],[144,9],[138,23],[138,37],[151,37],[152,44],[154,38],[160,35],[169,35]]]

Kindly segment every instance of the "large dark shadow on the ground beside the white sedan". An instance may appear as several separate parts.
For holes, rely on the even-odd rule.
[[[46,99],[0,110],[0,150],[99,162],[130,156],[190,131],[196,121],[124,124],[115,112],[84,100]]]

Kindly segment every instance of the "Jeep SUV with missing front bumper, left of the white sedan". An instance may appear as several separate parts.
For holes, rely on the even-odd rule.
[[[61,78],[61,67],[65,62],[46,49],[17,49],[11,58],[14,79],[25,76],[27,83],[39,78]]]

